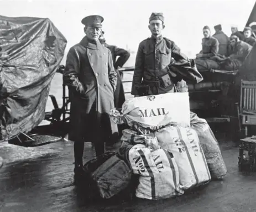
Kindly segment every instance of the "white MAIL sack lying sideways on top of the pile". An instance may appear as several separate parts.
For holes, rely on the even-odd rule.
[[[118,119],[112,113],[112,119]],[[137,123],[153,131],[170,123],[187,127],[190,126],[189,93],[167,93],[128,99],[122,106],[120,116],[130,127]]]

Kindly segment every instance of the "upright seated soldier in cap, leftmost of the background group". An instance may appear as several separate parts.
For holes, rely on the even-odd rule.
[[[203,27],[202,50],[196,55],[196,58],[205,59],[218,55],[219,42],[211,36],[209,26]]]

